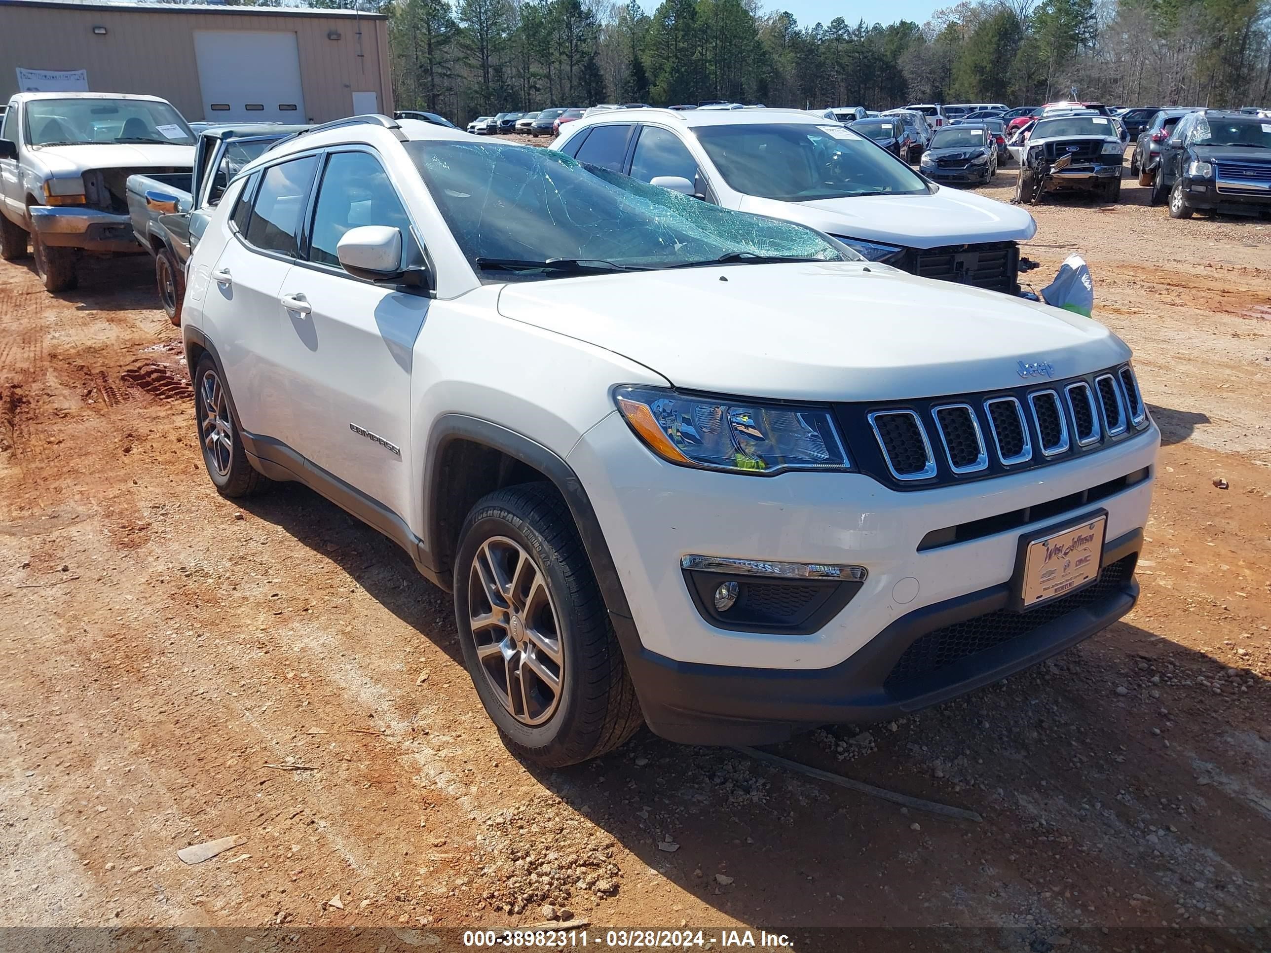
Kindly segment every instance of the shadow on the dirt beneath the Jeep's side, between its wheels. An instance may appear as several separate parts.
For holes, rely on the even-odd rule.
[[[450,593],[425,579],[400,546],[300,483],[236,501],[339,565],[381,606],[463,665]]]

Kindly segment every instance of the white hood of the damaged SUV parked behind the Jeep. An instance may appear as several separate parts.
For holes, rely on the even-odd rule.
[[[1027,241],[1037,231],[1037,222],[1023,208],[942,187],[924,196],[854,196],[816,202],[745,196],[741,211],[796,221],[830,235],[906,248]]]

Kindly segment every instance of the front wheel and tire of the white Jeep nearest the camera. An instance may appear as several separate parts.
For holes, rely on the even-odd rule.
[[[473,507],[455,557],[455,619],[473,686],[516,757],[578,764],[643,724],[591,563],[550,484],[507,487]]]

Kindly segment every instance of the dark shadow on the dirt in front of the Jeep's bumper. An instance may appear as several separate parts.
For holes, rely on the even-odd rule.
[[[1223,671],[1209,656],[1117,624],[962,700],[859,733],[820,731],[769,748],[969,808],[982,823],[901,808],[737,751],[672,745],[647,731],[600,761],[535,775],[647,865],[647,874],[639,865],[628,874],[624,889],[672,896],[660,887],[665,878],[714,911],[769,933],[796,925],[999,924],[1022,930],[1023,943],[985,948],[1052,949],[1055,936],[1071,928],[1157,926],[1176,916],[1177,891],[1169,884],[1195,879],[1188,851],[1213,851],[1244,877],[1265,869],[1271,826],[1260,807],[1263,795],[1240,787],[1252,784],[1258,769],[1248,767],[1232,740],[1271,747],[1258,742],[1256,728],[1266,700],[1260,717],[1232,720],[1221,696],[1174,687]],[[1243,685],[1257,676],[1240,670],[1239,679],[1228,679]],[[1257,690],[1265,694],[1265,686],[1248,691]],[[1242,698],[1253,704],[1253,694]],[[1166,705],[1179,710],[1162,714]],[[1176,724],[1185,719],[1213,731],[1182,740]],[[1166,746],[1171,737],[1174,748]],[[1214,785],[1199,789],[1197,773],[1210,774]],[[1183,789],[1186,797],[1177,794]],[[1149,797],[1167,792],[1168,806]],[[1163,834],[1172,842],[1157,850],[1155,835],[1145,835],[1168,823],[1182,832]],[[1144,902],[1141,910],[1136,901],[1130,910],[1131,895],[1169,900]],[[1251,898],[1248,915],[1266,900]],[[693,906],[679,911],[655,903],[651,923],[641,925],[702,921]],[[853,934],[830,938],[839,945],[825,948],[846,949],[849,939],[860,943],[852,948],[871,950],[980,948],[975,938],[970,929],[924,938]],[[924,942],[915,947],[916,939]],[[1033,940],[1047,942],[1030,945]]]

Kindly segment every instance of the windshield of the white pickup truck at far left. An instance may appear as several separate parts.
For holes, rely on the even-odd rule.
[[[175,109],[154,99],[32,99],[27,141],[33,146],[155,142],[192,146],[194,133]]]

